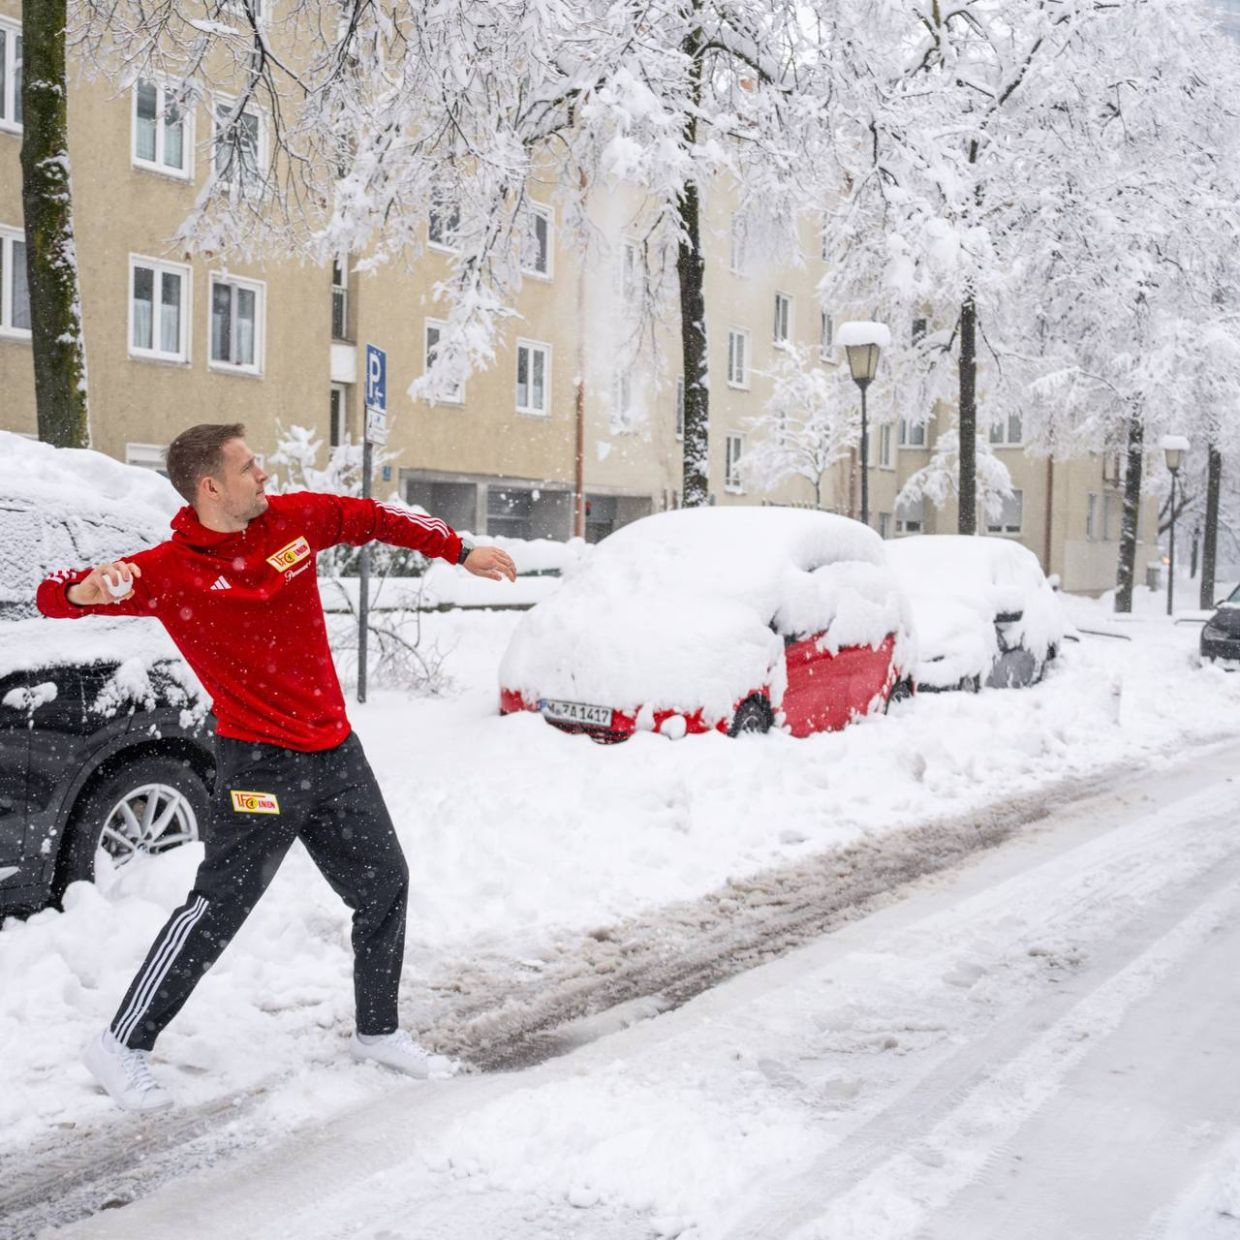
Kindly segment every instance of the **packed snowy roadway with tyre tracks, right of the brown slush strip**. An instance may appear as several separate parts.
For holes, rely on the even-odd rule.
[[[262,1145],[46,1234],[1240,1235],[1236,773],[1231,742],[1128,774],[534,1066],[308,1073]]]

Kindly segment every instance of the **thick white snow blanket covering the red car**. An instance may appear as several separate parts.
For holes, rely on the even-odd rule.
[[[883,543],[844,517],[792,508],[693,508],[619,529],[523,619],[500,683],[527,699],[703,708],[727,718],[782,696],[784,636],[831,647],[900,637]]]

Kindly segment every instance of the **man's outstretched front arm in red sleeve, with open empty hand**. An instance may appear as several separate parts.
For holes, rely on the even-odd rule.
[[[463,563],[476,577],[489,577],[495,582],[505,577],[510,582],[516,580],[517,569],[512,557],[498,547],[475,547],[463,558],[461,553],[467,548],[461,543],[460,534],[439,517],[347,495],[305,491],[288,498],[301,506],[316,551],[337,543],[360,547],[368,542],[382,542],[446,559],[450,564]]]

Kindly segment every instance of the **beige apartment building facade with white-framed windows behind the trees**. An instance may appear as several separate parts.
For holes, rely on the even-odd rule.
[[[0,36],[14,66],[20,4],[0,0]],[[11,77],[11,74],[10,74]],[[377,494],[398,491],[460,528],[525,537],[573,532],[578,378],[583,382],[583,476],[590,538],[675,506],[681,381],[677,308],[665,298],[639,331],[647,275],[636,192],[608,190],[590,203],[598,241],[588,254],[560,227],[553,170],[531,191],[546,250],[536,249],[498,334],[494,363],[470,374],[460,399],[414,399],[428,345],[446,317],[435,283],[451,262],[434,244],[408,268],[335,272],[291,262],[236,264],[181,252],[174,238],[211,169],[212,109],[170,126],[159,84],[119,89],[74,82],[69,143],[91,394],[92,443],[120,460],[157,466],[160,453],[196,422],[244,422],[270,453],[279,428],[315,428],[325,445],[357,439],[363,420],[366,345],[387,353],[394,459]],[[0,100],[0,427],[35,432],[29,332],[20,325],[20,125]],[[260,128],[262,118],[257,118]],[[262,139],[260,139],[262,144]],[[817,222],[801,229],[801,262],[773,264],[746,252],[725,187],[707,193],[707,331],[711,382],[711,492],[718,503],[813,502],[805,480],[771,494],[745,490],[737,460],[770,394],[766,373],[781,341],[820,356],[823,316],[816,286],[825,265]],[[440,237],[450,243],[450,237]],[[538,257],[544,257],[544,262]],[[20,265],[20,264],[19,264]],[[15,309],[16,308],[16,309]],[[831,315],[838,326],[847,315]],[[901,331],[893,325],[899,347]],[[428,332],[432,336],[428,339]],[[839,350],[821,355],[839,366]],[[885,536],[951,531],[955,512],[898,512],[895,495],[930,456],[935,427],[905,432],[872,409],[870,520]],[[884,430],[883,427],[887,429]],[[1118,497],[1101,459],[1049,465],[1019,441],[996,451],[1019,507],[1003,533],[1059,573],[1066,589],[1114,584]],[[854,480],[853,480],[854,481]],[[1048,501],[1053,501],[1048,506]],[[848,511],[849,469],[831,470],[823,506]],[[1147,517],[1148,521],[1148,517]]]

